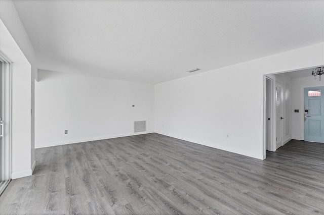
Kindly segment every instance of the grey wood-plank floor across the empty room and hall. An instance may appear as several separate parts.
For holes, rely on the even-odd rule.
[[[242,142],[244,144],[244,142]],[[36,149],[1,214],[324,214],[324,144],[265,160],[145,134]]]

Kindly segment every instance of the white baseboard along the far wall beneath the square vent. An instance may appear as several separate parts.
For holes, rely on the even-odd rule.
[[[93,138],[69,140],[69,141],[62,141],[62,142],[35,144],[35,148],[45,148],[45,147],[51,147],[51,146],[57,146],[57,145],[67,145],[67,144],[72,144],[72,143],[82,143],[82,142],[105,140],[105,139],[112,139],[112,138],[118,138],[118,137],[128,137],[128,136],[149,134],[149,133],[154,133],[154,131],[145,131],[145,132],[137,132],[137,133],[130,133],[130,134],[111,135],[111,136],[105,136],[105,137],[93,137]]]

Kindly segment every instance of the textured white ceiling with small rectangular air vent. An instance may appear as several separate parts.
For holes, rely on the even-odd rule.
[[[324,41],[324,1],[15,1],[38,69],[160,83]],[[196,73],[186,71],[200,68]]]

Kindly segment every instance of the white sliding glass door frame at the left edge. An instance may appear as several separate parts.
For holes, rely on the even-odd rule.
[[[12,103],[12,72],[11,72],[11,61],[6,57],[6,55],[0,51],[0,61],[3,64],[2,72],[2,118],[4,120],[4,136],[2,137],[2,144],[4,150],[2,151],[2,162],[4,162],[4,170],[1,175],[4,177],[4,180],[8,180],[4,186],[7,186],[9,181],[11,180],[11,156],[12,156],[12,133],[11,133],[11,125],[12,125],[12,116],[11,116],[11,103]],[[0,189],[4,189],[5,187],[1,187]],[[1,191],[1,190],[0,190]]]

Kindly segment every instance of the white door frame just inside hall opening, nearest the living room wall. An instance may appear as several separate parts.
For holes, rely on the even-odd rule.
[[[266,80],[269,80],[270,86],[270,99],[269,99],[269,118],[270,118],[270,123],[269,123],[269,130],[267,130],[266,123],[268,123],[268,119],[266,119],[266,96],[267,96],[267,86],[266,86]],[[275,122],[275,78],[271,75],[264,75],[263,76],[263,158],[266,158],[266,137],[267,137],[267,132],[269,135],[269,145],[268,145],[268,150],[269,151],[275,151],[275,128],[276,128],[276,122]]]

